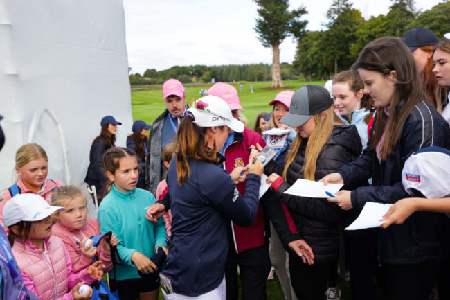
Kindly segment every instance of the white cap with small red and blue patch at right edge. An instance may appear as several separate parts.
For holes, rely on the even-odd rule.
[[[430,146],[414,152],[405,161],[402,182],[414,195],[420,191],[427,198],[442,198],[450,194],[450,151]]]

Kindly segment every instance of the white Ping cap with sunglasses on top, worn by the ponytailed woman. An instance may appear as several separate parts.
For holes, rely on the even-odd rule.
[[[194,123],[200,127],[219,127],[227,125],[235,132],[244,131],[244,123],[233,118],[225,100],[217,96],[199,98],[188,109],[194,116]]]

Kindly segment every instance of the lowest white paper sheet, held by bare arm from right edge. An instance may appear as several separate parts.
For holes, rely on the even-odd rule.
[[[345,230],[357,230],[379,227],[385,221],[380,221],[381,217],[385,215],[392,204],[367,202],[357,220],[354,220],[350,226]]]

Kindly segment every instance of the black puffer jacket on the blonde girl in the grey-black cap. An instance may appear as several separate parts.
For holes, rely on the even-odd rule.
[[[289,208],[298,233],[312,247],[314,261],[332,261],[337,258],[339,253],[337,225],[342,210],[325,198],[297,197],[284,193],[297,179],[303,179],[306,145],[307,140],[304,139],[298,150],[296,160],[291,163],[287,170],[287,182],[281,184],[277,194]],[[361,148],[361,139],[354,125],[334,128],[332,136],[318,155],[316,180],[336,172],[343,164],[357,159],[361,153]],[[264,168],[264,173],[281,175],[282,168],[271,162]]]

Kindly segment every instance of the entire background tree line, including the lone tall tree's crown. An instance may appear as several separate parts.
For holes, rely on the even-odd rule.
[[[277,0],[282,3],[283,14],[289,13],[289,2]],[[361,11],[353,8],[348,0],[334,0],[327,10],[325,30],[303,30],[306,21],[296,21],[296,26],[290,26],[290,30],[300,30],[293,35],[297,38],[297,50],[294,62],[280,64],[282,80],[291,80],[300,76],[305,80],[323,80],[330,75],[349,69],[357,59],[359,52],[368,42],[384,36],[402,37],[411,28],[424,27],[433,30],[439,39],[444,33],[450,32],[450,1],[444,1],[424,12],[415,8],[414,0],[391,0],[392,4],[386,15],[372,16],[366,20]],[[266,17],[270,15],[271,1],[256,1],[260,8],[265,8]],[[267,4],[267,3],[268,4]],[[265,4],[264,4],[265,3]],[[264,6],[266,5],[266,6]],[[280,12],[275,12],[273,17],[280,18]],[[258,12],[260,12],[258,10]],[[296,20],[307,12],[307,8],[300,7],[294,10]],[[261,15],[261,13],[260,13]],[[291,16],[292,17],[292,16]],[[302,27],[303,26],[303,27]],[[301,27],[301,28],[300,28]],[[264,28],[260,25],[258,31],[255,28],[258,39],[269,46],[271,40],[261,32]],[[264,29],[264,30],[267,30]],[[283,29],[285,30],[285,29]],[[283,37],[284,38],[284,37]],[[280,40],[279,36],[276,41]],[[282,40],[282,39],[281,39]],[[272,41],[273,42],[273,41]],[[183,83],[210,82],[213,78],[216,82],[267,81],[272,80],[272,65],[270,64],[229,64],[224,66],[174,66],[163,71],[147,69],[142,75],[132,73],[129,80],[132,85],[161,84],[169,78],[176,78]]]

